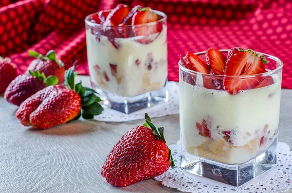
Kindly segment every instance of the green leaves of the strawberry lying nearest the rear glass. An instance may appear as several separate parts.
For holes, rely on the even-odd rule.
[[[104,110],[103,107],[99,104],[101,99],[95,90],[92,88],[83,87],[81,81],[75,85],[74,78],[76,75],[77,72],[74,72],[74,67],[71,67],[65,73],[65,82],[69,88],[74,90],[81,97],[82,117],[84,119],[93,119],[93,116],[101,114]]]

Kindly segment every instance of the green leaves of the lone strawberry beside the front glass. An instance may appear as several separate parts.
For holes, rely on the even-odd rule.
[[[164,138],[164,127],[158,127],[156,128],[155,125],[151,122],[150,117],[148,116],[147,113],[145,113],[145,121],[146,123],[143,124],[143,126],[146,126],[150,129],[152,129],[154,135],[159,139],[159,140],[163,140],[165,143],[165,138]],[[169,162],[170,162],[170,166],[171,168],[174,168],[174,160],[172,158],[171,155],[171,150],[168,148],[168,153],[169,153]]]

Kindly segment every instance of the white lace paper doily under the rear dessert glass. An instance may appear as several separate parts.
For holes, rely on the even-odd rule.
[[[168,82],[168,102],[152,106],[150,108],[144,108],[135,111],[130,114],[121,113],[119,111],[105,108],[102,114],[94,116],[97,121],[105,122],[127,122],[131,120],[144,119],[145,113],[148,113],[149,117],[163,117],[165,115],[174,115],[179,113],[179,84],[177,82]]]

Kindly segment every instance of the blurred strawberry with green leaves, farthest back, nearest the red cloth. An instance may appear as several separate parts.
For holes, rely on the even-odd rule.
[[[38,70],[40,73],[44,73],[46,76],[56,76],[59,80],[57,84],[64,82],[64,63],[61,60],[56,60],[56,54],[54,50],[49,51],[45,56],[35,51],[28,51],[28,53],[32,57],[37,57],[37,59],[30,63],[26,70],[26,74],[29,74],[29,71]]]

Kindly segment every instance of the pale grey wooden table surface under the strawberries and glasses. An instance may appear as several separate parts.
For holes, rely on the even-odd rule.
[[[88,77],[82,77],[88,84]],[[144,120],[105,123],[79,120],[47,130],[22,126],[17,106],[0,95],[0,193],[177,193],[153,179],[125,188],[100,174],[113,145]],[[179,115],[153,118],[167,144],[179,140]],[[282,89],[279,141],[292,147],[292,90]],[[289,190],[287,193],[292,193]]]

